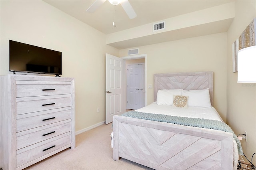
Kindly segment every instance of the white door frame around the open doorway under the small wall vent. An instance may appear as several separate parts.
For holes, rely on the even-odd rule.
[[[120,57],[123,59],[123,69],[127,69],[126,68],[126,60],[129,59],[141,59],[141,58],[145,58],[145,106],[147,105],[147,54],[139,54],[139,55],[130,55],[130,56],[124,56],[124,57]],[[123,81],[123,87],[125,87],[123,89],[123,101],[125,103],[125,107],[123,107],[124,109],[124,113],[125,113],[125,109],[127,109],[127,73],[126,70],[123,71],[123,77],[126,77],[126,79],[123,79],[125,81]]]

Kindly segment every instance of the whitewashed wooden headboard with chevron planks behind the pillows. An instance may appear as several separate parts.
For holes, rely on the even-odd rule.
[[[213,106],[213,71],[154,74],[154,101],[158,90],[184,89],[200,90],[209,88]]]

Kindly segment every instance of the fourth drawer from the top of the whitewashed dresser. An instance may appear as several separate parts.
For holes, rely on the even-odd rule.
[[[71,120],[53,123],[43,127],[33,128],[16,133],[16,149],[18,150],[20,148],[24,148],[43,140],[47,140],[60,134],[70,132],[71,122],[68,121]]]

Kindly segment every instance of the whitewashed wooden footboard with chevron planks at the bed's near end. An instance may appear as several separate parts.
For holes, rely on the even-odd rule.
[[[232,170],[233,134],[114,116],[113,159],[154,169]]]

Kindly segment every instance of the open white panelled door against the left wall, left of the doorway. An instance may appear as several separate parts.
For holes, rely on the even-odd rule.
[[[106,124],[122,114],[122,59],[106,54]]]

